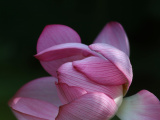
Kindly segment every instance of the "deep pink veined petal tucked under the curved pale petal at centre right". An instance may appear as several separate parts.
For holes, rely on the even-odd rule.
[[[124,74],[107,59],[91,56],[74,61],[73,66],[98,84],[122,85],[127,82]]]

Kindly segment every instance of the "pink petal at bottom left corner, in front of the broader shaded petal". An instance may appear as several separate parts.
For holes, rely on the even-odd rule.
[[[46,120],[54,120],[58,114],[58,107],[32,98],[17,97],[10,102],[9,106],[16,112],[19,118],[40,118]],[[17,114],[19,113],[19,114]]]

